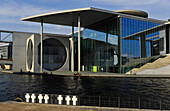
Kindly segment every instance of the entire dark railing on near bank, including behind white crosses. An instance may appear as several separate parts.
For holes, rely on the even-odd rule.
[[[39,94],[35,94],[35,95],[38,96]],[[57,97],[59,95],[48,94],[48,96],[49,96],[48,104],[58,104]],[[66,105],[66,100],[65,100],[66,96],[68,95],[62,95],[63,97],[62,105]],[[73,96],[70,95],[70,97],[73,97]],[[78,106],[170,110],[170,100],[155,98],[155,97],[76,95],[76,98],[77,98],[76,105]],[[25,100],[24,97],[23,99]],[[35,100],[35,101],[37,101],[38,103],[38,100]]]

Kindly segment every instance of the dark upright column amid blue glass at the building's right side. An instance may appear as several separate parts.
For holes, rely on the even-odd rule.
[[[140,36],[140,57],[146,57],[146,39],[143,34]]]

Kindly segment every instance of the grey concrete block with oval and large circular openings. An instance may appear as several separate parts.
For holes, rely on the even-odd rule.
[[[40,72],[40,34],[13,32],[13,71]],[[43,34],[43,72],[69,71],[69,36]]]

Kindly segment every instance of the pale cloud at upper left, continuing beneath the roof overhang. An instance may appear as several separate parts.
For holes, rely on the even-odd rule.
[[[4,1],[0,4],[0,29],[38,33],[40,30],[40,28],[38,28],[40,27],[39,23],[21,21],[21,18],[54,11],[56,10],[35,7],[30,4]],[[68,34],[70,33],[70,28],[60,25],[44,24],[44,32]]]

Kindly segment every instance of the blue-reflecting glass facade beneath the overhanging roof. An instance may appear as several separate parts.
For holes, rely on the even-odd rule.
[[[85,71],[126,73],[159,54],[159,31],[136,34],[159,23],[116,17],[81,31],[81,67]],[[74,67],[77,70],[77,33]]]

